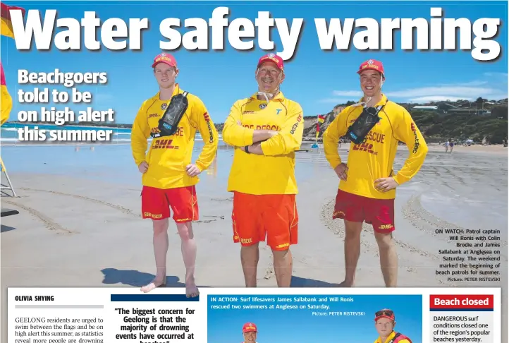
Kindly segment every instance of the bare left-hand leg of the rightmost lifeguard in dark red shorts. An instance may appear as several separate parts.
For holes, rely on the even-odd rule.
[[[360,232],[362,222],[349,222],[345,219],[345,281],[339,287],[352,287],[355,270],[360,256]]]

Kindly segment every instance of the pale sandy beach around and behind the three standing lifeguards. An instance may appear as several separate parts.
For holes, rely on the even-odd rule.
[[[343,159],[348,148],[340,150]],[[219,150],[216,173],[202,173],[197,186],[200,221],[193,227],[200,287],[244,286],[240,246],[232,238],[231,194],[226,192],[232,156],[233,150]],[[395,170],[406,157],[406,147],[400,146]],[[18,195],[2,197],[2,207],[20,211],[1,220],[3,301],[6,287],[140,287],[152,279],[152,228],[140,218],[140,174],[128,145],[83,146],[80,151],[2,147],[2,158]],[[292,285],[333,287],[344,277],[343,222],[331,220],[338,177],[316,150],[298,152],[296,170],[300,222],[299,243],[292,247]],[[501,282],[471,283],[448,282],[435,273],[439,249],[454,246],[448,234],[436,229],[448,228],[501,230],[501,270],[507,270],[507,148],[457,146],[446,154],[432,145],[419,174],[398,188],[395,204],[398,286],[504,287],[507,302],[506,272]],[[168,286],[183,287],[185,268],[174,224],[169,233]],[[259,286],[274,287],[271,253],[262,246]],[[366,224],[356,286],[384,286],[372,227]]]

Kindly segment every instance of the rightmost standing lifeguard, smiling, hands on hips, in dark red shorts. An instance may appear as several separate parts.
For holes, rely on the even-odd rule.
[[[389,101],[382,93],[381,87],[386,78],[381,62],[365,61],[357,73],[360,74],[364,97],[338,114],[324,133],[325,157],[340,179],[332,217],[345,221],[345,280],[340,287],[352,287],[354,284],[364,221],[373,226],[386,287],[395,287],[398,274],[398,256],[392,237],[395,229],[395,188],[417,174],[428,147],[407,110]],[[366,116],[366,112],[376,113],[379,121],[362,143],[350,143],[348,163],[345,163],[338,154],[338,140],[348,133],[348,127],[362,113],[362,117],[366,118],[364,123],[373,123],[368,120],[370,117]],[[398,141],[407,145],[410,156],[403,168],[394,174]]]

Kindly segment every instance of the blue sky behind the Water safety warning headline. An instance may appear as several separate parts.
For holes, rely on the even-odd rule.
[[[152,69],[152,60],[161,52],[159,23],[164,18],[210,18],[217,6],[228,6],[228,17],[250,18],[255,20],[258,11],[270,11],[272,18],[304,18],[304,27],[298,43],[298,50],[291,61],[286,62],[286,80],[281,89],[287,97],[299,102],[305,115],[314,116],[330,112],[333,106],[360,97],[359,81],[356,74],[359,65],[367,59],[384,62],[387,80],[384,92],[396,102],[427,102],[429,100],[475,100],[482,96],[489,100],[499,100],[508,93],[507,57],[507,4],[494,2],[325,2],[309,4],[305,2],[46,2],[46,1],[8,1],[9,5],[24,8],[58,10],[58,18],[82,18],[84,11],[96,11],[102,23],[107,18],[149,18],[150,28],[143,34],[142,51],[111,52],[30,52],[16,50],[14,40],[2,37],[1,61],[6,73],[6,82],[13,98],[18,88],[17,71],[26,68],[30,71],[54,71],[59,68],[66,72],[106,71],[108,85],[83,87],[78,90],[92,90],[94,109],[113,108],[117,123],[132,123],[140,104],[157,92]],[[226,4],[226,5],[225,5]],[[501,26],[496,40],[501,44],[501,57],[497,61],[482,62],[472,58],[470,51],[453,52],[404,52],[400,50],[400,35],[395,34],[393,51],[350,51],[324,52],[319,48],[319,40],[314,18],[430,18],[429,8],[441,6],[446,18],[469,18],[473,23],[477,18],[501,18]],[[180,32],[187,32],[181,29]],[[56,30],[58,32],[58,29]],[[225,35],[227,37],[227,35]],[[277,31],[272,39],[273,52],[281,51]],[[209,41],[209,44],[211,42]],[[179,49],[171,52],[176,56],[180,68],[178,82],[181,87],[202,98],[212,119],[223,122],[228,116],[235,100],[248,97],[256,91],[254,79],[257,60],[266,52],[257,48],[251,52],[235,51],[225,42],[223,52],[195,51]],[[279,49],[278,49],[279,48]],[[61,88],[60,88],[61,89]],[[72,105],[72,104],[70,104]],[[70,106],[69,105],[69,106]],[[44,106],[44,104],[42,105]],[[51,106],[47,104],[46,106]],[[59,106],[62,105],[55,105]],[[11,112],[11,120],[16,120],[20,109],[38,109],[33,104],[17,104]],[[76,111],[83,106],[74,105]]]

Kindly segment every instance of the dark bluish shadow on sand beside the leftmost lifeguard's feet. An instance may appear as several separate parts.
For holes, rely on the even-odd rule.
[[[116,268],[104,268],[101,270],[104,275],[103,284],[125,284],[127,286],[142,287],[151,282],[155,275],[137,270],[118,270]],[[166,277],[166,287],[185,287],[183,282],[176,276]],[[209,288],[200,286],[198,288]]]

